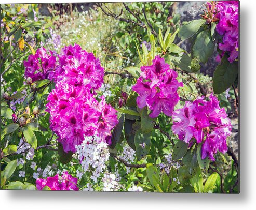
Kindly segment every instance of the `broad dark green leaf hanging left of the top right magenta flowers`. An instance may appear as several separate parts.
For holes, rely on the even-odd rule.
[[[198,57],[203,63],[208,61],[214,50],[214,43],[211,39],[210,29],[200,32],[193,46],[194,57]]]

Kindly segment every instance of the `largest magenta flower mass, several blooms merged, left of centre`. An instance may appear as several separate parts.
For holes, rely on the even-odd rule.
[[[111,130],[118,123],[116,110],[94,95],[103,83],[104,69],[92,53],[74,45],[62,49],[56,67],[56,86],[46,105],[50,128],[65,152],[75,152],[84,136],[111,144]]]

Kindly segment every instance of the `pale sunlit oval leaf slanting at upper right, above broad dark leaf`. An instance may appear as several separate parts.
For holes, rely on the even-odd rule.
[[[206,21],[205,20],[192,20],[184,24],[179,33],[178,36],[182,39],[188,39],[191,38],[196,32],[199,30],[201,25],[203,25]]]

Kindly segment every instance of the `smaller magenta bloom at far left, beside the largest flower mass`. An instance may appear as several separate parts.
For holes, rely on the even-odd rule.
[[[25,78],[30,77],[32,81],[55,78],[56,57],[53,56],[53,52],[50,54],[41,47],[35,55],[29,55],[28,61],[24,61],[25,66]]]

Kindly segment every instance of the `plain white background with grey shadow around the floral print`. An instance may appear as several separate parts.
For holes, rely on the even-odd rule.
[[[1,0],[1,4],[50,2],[90,1]],[[0,190],[1,209],[255,209],[255,3],[256,1],[240,0],[240,194]]]

